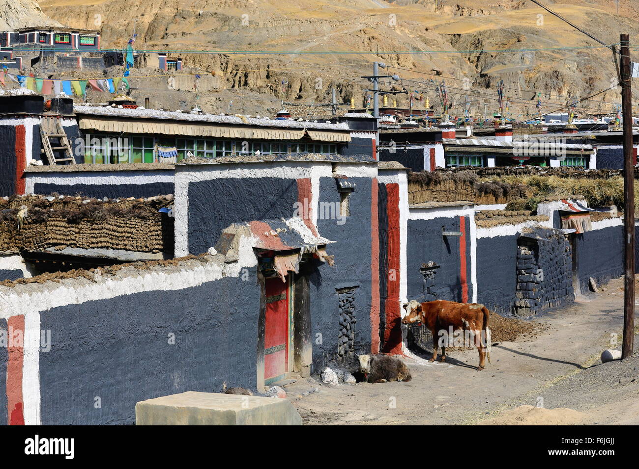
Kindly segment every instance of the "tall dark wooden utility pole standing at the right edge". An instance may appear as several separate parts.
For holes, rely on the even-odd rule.
[[[633,354],[635,341],[635,163],[630,36],[621,34],[621,103],[624,117],[624,343],[621,358]]]

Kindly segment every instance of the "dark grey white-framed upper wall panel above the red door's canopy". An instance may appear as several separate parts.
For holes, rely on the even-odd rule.
[[[191,254],[215,246],[232,223],[293,216],[298,197],[296,179],[275,177],[190,182],[188,193]]]

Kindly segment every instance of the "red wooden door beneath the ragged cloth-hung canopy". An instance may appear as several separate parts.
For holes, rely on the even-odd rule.
[[[288,278],[266,279],[266,317],[264,325],[264,382],[271,384],[286,377],[289,344]]]

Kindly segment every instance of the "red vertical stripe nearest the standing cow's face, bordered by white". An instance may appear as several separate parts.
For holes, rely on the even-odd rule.
[[[386,214],[389,223],[387,260],[387,295],[385,302],[386,328],[384,330],[384,352],[401,354],[401,312],[399,310],[399,184],[387,184]]]

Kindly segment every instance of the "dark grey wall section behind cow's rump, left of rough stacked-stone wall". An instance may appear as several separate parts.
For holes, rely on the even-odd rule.
[[[516,274],[516,235],[477,239],[477,302],[499,315],[511,315]]]

